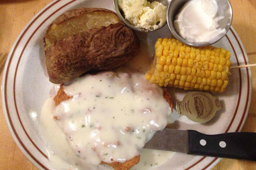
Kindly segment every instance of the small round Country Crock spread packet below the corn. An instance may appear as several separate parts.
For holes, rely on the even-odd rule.
[[[188,92],[182,101],[176,103],[178,114],[187,116],[197,123],[205,123],[221,110],[220,100],[206,92]]]

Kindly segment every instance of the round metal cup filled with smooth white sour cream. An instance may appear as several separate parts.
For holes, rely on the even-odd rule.
[[[228,32],[232,22],[228,0],[172,0],[167,22],[172,34],[190,46],[208,46]]]

